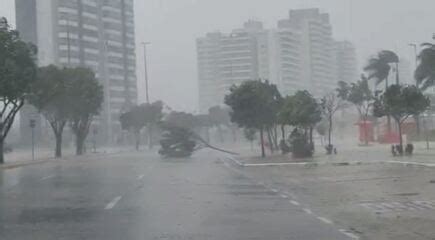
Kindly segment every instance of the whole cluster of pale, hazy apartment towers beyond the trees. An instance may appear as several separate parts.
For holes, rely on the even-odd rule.
[[[197,53],[201,112],[246,80],[269,80],[283,95],[308,90],[320,98],[357,75],[353,45],[333,39],[329,15],[319,9],[290,10],[275,29],[249,21],[230,34],[207,34],[197,40]]]

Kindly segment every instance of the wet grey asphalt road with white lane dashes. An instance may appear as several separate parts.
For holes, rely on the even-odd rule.
[[[201,152],[0,170],[0,239],[341,240],[327,219]]]

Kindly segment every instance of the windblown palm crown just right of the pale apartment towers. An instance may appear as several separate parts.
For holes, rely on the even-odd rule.
[[[369,59],[368,64],[364,67],[364,71],[368,72],[369,79],[376,79],[376,86],[385,81],[386,88],[388,87],[388,76],[390,75],[391,65],[396,64],[396,81],[399,82],[398,64],[399,57],[396,53],[389,50],[380,51],[375,57]]]

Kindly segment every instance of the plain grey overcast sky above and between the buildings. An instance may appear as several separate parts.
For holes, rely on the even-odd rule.
[[[38,0],[44,1],[44,0]],[[13,20],[14,0],[0,0],[0,15]],[[431,41],[434,0],[135,0],[138,78],[143,98],[143,54],[148,61],[151,98],[176,109],[197,106],[195,39],[208,31],[229,31],[248,19],[274,27],[291,8],[318,7],[331,15],[335,38],[355,43],[360,64],[380,49],[412,59],[408,43]],[[12,21],[13,22],[13,21]]]

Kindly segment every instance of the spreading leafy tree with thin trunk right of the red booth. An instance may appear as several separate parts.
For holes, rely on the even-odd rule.
[[[376,117],[390,115],[396,121],[403,149],[402,123],[408,117],[424,112],[429,105],[429,99],[416,86],[392,85],[376,99],[373,113]]]

